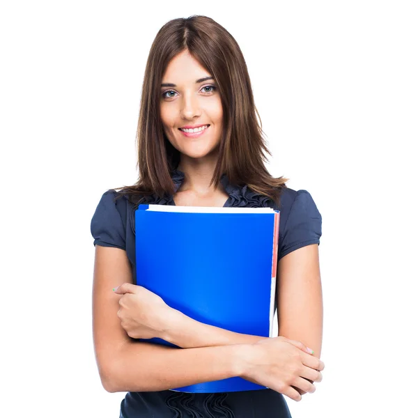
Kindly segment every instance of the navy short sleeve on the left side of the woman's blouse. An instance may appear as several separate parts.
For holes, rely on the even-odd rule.
[[[126,249],[125,231],[115,198],[114,190],[108,190],[102,195],[91,219],[91,235],[94,245]]]

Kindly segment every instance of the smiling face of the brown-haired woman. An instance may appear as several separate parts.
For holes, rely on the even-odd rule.
[[[180,153],[201,158],[217,152],[223,116],[219,91],[187,50],[169,62],[162,76],[160,111],[167,139]]]

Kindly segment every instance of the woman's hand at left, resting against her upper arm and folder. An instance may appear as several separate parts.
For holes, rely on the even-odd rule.
[[[119,299],[118,318],[130,337],[161,338],[167,330],[173,309],[160,296],[131,283],[121,284],[114,293],[122,295]]]

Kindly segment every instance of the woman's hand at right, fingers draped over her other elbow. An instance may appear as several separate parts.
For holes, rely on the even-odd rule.
[[[245,365],[240,377],[266,386],[294,401],[300,401],[299,392],[313,393],[313,382],[323,379],[325,364],[309,354],[300,341],[277,336],[246,345]]]

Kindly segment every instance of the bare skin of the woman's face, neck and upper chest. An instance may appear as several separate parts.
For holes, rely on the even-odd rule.
[[[178,168],[185,180],[174,196],[178,206],[223,206],[228,194],[221,187],[209,187],[222,136],[222,102],[212,75],[187,50],[174,57],[162,77],[160,114],[164,132],[180,151]],[[210,125],[199,138],[187,138],[179,128]]]

